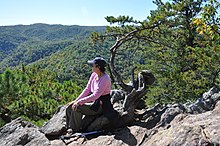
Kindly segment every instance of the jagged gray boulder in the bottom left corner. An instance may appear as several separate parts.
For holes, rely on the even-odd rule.
[[[37,126],[17,118],[0,128],[0,145],[48,146],[50,141]]]

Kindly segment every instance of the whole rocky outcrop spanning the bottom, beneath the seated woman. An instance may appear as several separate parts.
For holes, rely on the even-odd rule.
[[[192,108],[193,107],[193,108]],[[195,108],[196,107],[196,108]],[[210,89],[191,104],[160,105],[147,109],[133,126],[85,138],[71,138],[69,146],[78,145],[220,145],[220,92]],[[65,146],[58,138],[65,129],[65,107],[41,128],[13,120],[0,128],[0,146]],[[49,140],[50,139],[50,140]]]

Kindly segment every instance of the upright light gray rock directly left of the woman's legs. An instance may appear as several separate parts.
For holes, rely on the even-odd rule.
[[[57,109],[53,117],[40,128],[40,131],[50,139],[62,135],[66,129],[65,125],[66,106],[61,106]]]

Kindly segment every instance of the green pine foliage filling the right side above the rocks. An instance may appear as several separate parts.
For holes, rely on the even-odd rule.
[[[134,66],[137,70],[152,70],[157,81],[147,93],[148,104],[192,101],[212,86],[219,87],[219,2],[153,2],[157,9],[144,21],[127,16],[106,17],[110,24],[118,25],[107,27],[104,37],[95,34],[93,39],[116,40],[137,31],[118,48],[115,62],[125,78]],[[129,52],[134,53],[129,56]],[[123,66],[118,63],[121,61],[125,62]]]

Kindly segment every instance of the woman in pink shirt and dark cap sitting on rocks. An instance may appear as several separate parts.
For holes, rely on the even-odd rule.
[[[113,110],[110,102],[111,79],[105,73],[106,61],[101,57],[96,57],[88,61],[92,65],[93,73],[87,83],[86,88],[79,97],[69,103],[66,109],[67,129],[74,132],[82,130],[83,115],[107,114]]]

